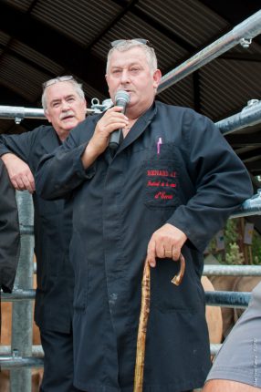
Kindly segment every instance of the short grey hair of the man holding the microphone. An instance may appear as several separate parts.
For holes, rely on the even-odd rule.
[[[115,42],[116,45],[113,45],[108,53],[107,66],[106,66],[107,74],[110,68],[110,57],[115,52],[115,50],[118,50],[119,52],[126,52],[127,50],[130,50],[132,47],[141,47],[141,49],[143,50],[143,52],[147,57],[148,65],[151,69],[151,74],[153,74],[155,70],[158,68],[158,61],[153,47],[141,43],[136,39],[122,39],[122,40],[120,39],[119,41],[115,41]]]

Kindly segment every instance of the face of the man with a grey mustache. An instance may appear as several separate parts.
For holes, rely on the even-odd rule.
[[[75,128],[86,116],[86,101],[79,98],[74,86],[66,82],[57,82],[47,87],[48,121],[57,131],[59,139],[68,137],[68,132]]]

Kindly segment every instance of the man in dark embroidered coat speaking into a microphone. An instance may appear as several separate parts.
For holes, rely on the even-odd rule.
[[[36,174],[43,197],[74,199],[75,386],[88,392],[133,390],[145,261],[153,267],[151,313],[143,389],[135,391],[203,386],[210,367],[203,252],[252,194],[243,163],[210,119],[155,101],[161,71],[148,44],[112,44],[110,98],[130,101],[79,124]],[[118,129],[122,141],[111,151]],[[176,286],[181,251],[186,271]]]

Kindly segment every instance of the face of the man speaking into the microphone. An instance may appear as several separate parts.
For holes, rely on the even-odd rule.
[[[151,106],[161,77],[159,69],[151,74],[147,57],[141,47],[132,47],[124,52],[115,50],[110,57],[110,67],[106,75],[110,98],[114,100],[119,89],[128,91],[131,101],[126,114],[138,117]]]

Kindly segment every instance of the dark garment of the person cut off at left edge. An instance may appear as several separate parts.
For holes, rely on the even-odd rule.
[[[16,191],[0,160],[0,289],[11,293],[20,251]]]

